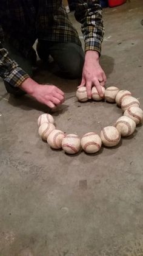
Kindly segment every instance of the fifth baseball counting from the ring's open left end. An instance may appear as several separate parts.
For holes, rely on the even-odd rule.
[[[81,146],[87,153],[96,153],[101,149],[101,138],[95,132],[88,132],[81,138]]]

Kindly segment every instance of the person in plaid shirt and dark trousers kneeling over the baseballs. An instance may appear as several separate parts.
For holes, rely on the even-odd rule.
[[[75,18],[81,23],[85,54],[62,0],[0,0],[0,5],[0,76],[8,93],[28,93],[50,108],[64,102],[58,87],[32,79],[33,44],[38,39],[40,59],[46,62],[51,55],[65,77],[82,77],[79,86],[86,86],[89,99],[92,86],[102,96],[106,76],[99,64],[104,35],[99,0],[76,1]]]

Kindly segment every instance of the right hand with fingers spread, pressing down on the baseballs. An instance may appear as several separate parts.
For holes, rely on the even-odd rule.
[[[99,54],[96,51],[87,51],[85,54],[82,81],[79,87],[87,87],[88,99],[91,99],[91,87],[95,86],[98,93],[103,97],[102,87],[105,85],[106,76],[99,64]]]

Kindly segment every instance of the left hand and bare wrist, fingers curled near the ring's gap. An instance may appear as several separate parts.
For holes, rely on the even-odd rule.
[[[20,88],[42,104],[54,108],[64,102],[64,93],[55,85],[41,85],[28,77]]]

